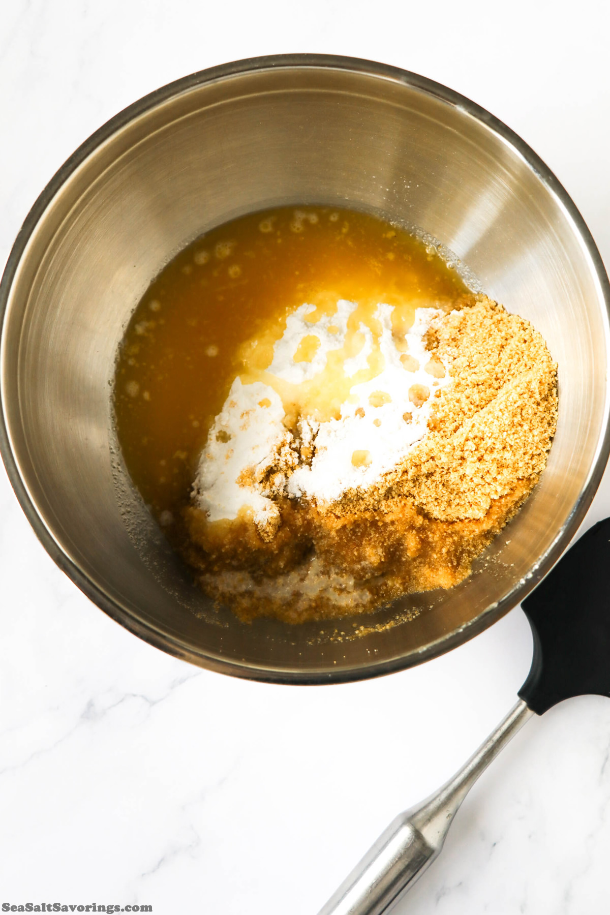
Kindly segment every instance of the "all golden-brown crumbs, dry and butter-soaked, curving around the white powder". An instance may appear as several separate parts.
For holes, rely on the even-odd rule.
[[[287,432],[271,464],[256,470],[274,501],[262,527],[251,511],[210,523],[194,504],[186,509],[182,550],[211,597],[243,619],[301,622],[370,611],[469,575],[545,467],[556,366],[530,323],[486,296],[461,296],[433,320],[426,346],[431,375],[443,378],[446,367],[451,383],[433,395],[427,434],[372,486],[335,501],[288,498],[303,443]],[[417,406],[428,396],[411,399]],[[314,436],[305,459],[315,448]],[[354,454],[354,466],[366,466],[368,452]]]

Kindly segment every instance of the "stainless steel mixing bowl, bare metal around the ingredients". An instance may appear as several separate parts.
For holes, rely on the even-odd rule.
[[[293,202],[371,210],[443,242],[547,339],[560,418],[540,485],[462,585],[372,618],[246,625],[192,586],[134,492],[112,429],[112,371],[138,299],[180,248]],[[273,681],[387,673],[485,629],[568,544],[608,453],[608,302],[594,242],[556,178],[455,92],[346,58],[206,70],[105,124],[28,215],[1,286],[5,465],[58,565],[157,647]],[[421,611],[411,621],[410,609]],[[355,637],[359,625],[369,631]]]

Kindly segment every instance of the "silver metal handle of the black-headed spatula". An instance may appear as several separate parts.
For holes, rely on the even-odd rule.
[[[453,779],[390,823],[319,915],[381,915],[398,902],[441,851],[455,813],[481,772],[531,715],[520,700]]]

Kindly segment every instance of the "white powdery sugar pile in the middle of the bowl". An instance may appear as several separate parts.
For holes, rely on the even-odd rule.
[[[447,367],[430,360],[424,340],[431,322],[444,312],[417,308],[412,327],[397,337],[391,325],[393,307],[380,304],[371,326],[360,322],[351,330],[348,320],[356,308],[342,299],[333,315],[316,323],[306,320],[314,306],[297,308],[274,345],[266,370],[269,383],[243,383],[239,377],[232,383],[210,429],[194,484],[195,503],[207,511],[209,521],[235,519],[249,507],[257,525],[265,524],[278,513],[273,501],[278,493],[319,503],[335,501],[346,490],[368,489],[423,439],[433,395],[451,383]],[[348,355],[355,349],[356,335],[359,351]],[[312,354],[303,358],[303,347],[312,337]],[[378,371],[349,387],[339,418],[319,422],[302,415],[295,437],[284,425],[284,404],[273,382],[277,380],[280,390],[280,382],[297,387],[311,382],[326,370],[332,352],[345,353],[340,371],[348,379],[367,372],[371,364]],[[281,472],[270,482],[264,471],[277,465],[278,455]]]

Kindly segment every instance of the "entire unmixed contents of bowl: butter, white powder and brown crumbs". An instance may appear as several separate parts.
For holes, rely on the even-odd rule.
[[[299,622],[462,581],[545,466],[556,367],[430,245],[286,208],[160,274],[115,405],[136,485],[204,591]]]

